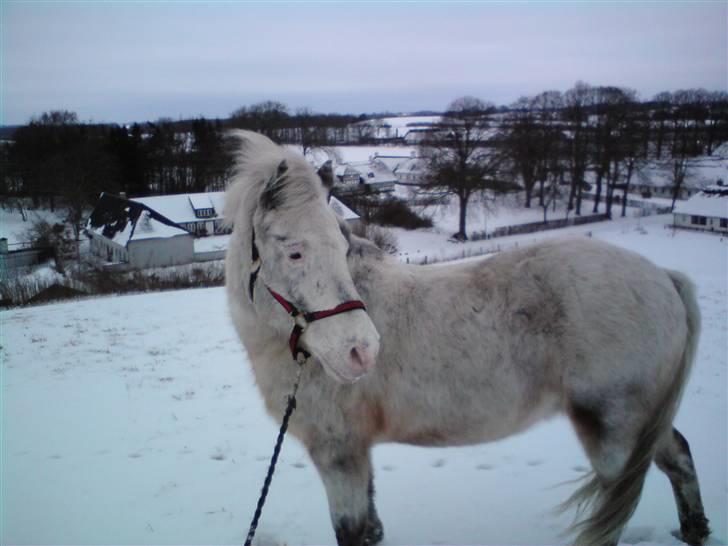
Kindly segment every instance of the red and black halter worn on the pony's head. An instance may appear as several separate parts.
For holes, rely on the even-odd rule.
[[[248,279],[248,294],[250,295],[251,303],[254,302],[255,281],[258,279],[260,268],[263,265],[260,260],[258,247],[255,244],[255,230],[253,230],[252,235],[252,261],[253,269],[250,271],[250,278]],[[356,309],[362,309],[363,311],[366,311],[366,306],[364,305],[364,302],[362,302],[361,300],[350,300],[344,303],[340,303],[339,305],[331,309],[325,309],[323,311],[312,311],[307,313],[300,310],[293,303],[281,296],[278,292],[270,288],[268,285],[265,285],[265,287],[268,289],[270,295],[273,296],[273,299],[275,299],[293,319],[293,330],[291,331],[291,336],[288,339],[288,347],[291,350],[291,356],[293,356],[293,360],[295,360],[299,364],[303,364],[311,357],[311,354],[308,351],[298,346],[298,342],[300,341],[303,332],[306,330],[306,327],[310,323],[327,317],[332,317],[334,315],[340,315],[341,313],[346,313],[348,311],[354,311]]]

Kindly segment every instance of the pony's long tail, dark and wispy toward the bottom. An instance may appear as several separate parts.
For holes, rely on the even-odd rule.
[[[700,311],[695,288],[682,273],[667,271],[686,311],[687,339],[680,364],[669,388],[643,426],[637,444],[617,479],[605,483],[594,473],[587,482],[559,509],[576,506],[577,517],[587,508],[591,515],[575,524],[569,533],[578,533],[574,541],[578,545],[602,546],[617,544],[622,529],[637,508],[647,470],[652,463],[659,442],[672,431],[672,422],[680,404],[682,393],[690,375],[700,336]]]

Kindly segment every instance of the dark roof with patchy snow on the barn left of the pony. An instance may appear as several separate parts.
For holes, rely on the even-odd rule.
[[[189,232],[144,204],[108,193],[101,194],[86,229],[121,246],[141,239],[189,236]]]

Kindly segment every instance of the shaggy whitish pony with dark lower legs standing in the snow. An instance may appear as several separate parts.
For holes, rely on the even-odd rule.
[[[590,509],[577,544],[617,543],[653,461],[671,481],[683,540],[703,544],[695,468],[672,427],[700,329],[687,278],[587,238],[405,265],[337,221],[330,171],[319,177],[255,133],[235,136],[230,310],[274,417],[296,377],[291,352],[312,355],[290,431],[321,475],[340,545],[383,536],[373,444],[487,442],[557,412],[593,467],[570,499]],[[291,312],[333,309],[307,326],[299,316],[306,329],[291,335]]]

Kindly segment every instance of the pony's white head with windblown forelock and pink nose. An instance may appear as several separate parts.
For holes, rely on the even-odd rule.
[[[260,269],[251,303],[260,320],[288,336],[292,319],[268,289],[306,313],[359,300],[347,266],[348,240],[328,206],[324,183],[302,156],[256,133],[234,136],[243,145],[237,182],[226,199],[226,218],[239,232],[232,242],[255,246]],[[311,322],[299,346],[335,380],[353,382],[374,366],[379,334],[369,315],[355,309]]]

